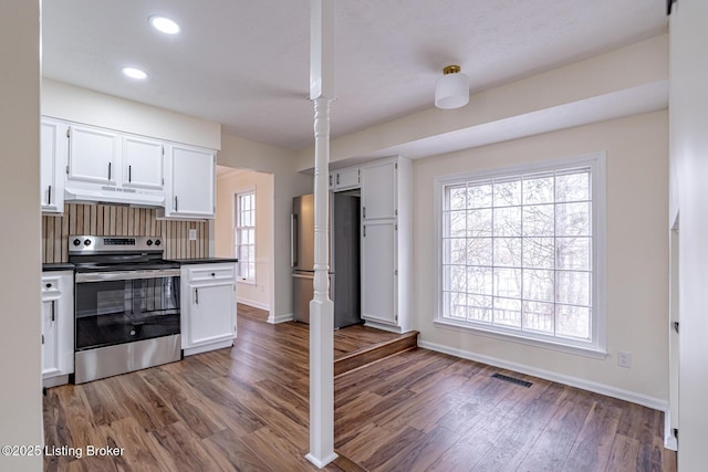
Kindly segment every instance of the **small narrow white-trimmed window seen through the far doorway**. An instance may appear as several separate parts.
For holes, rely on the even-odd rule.
[[[237,276],[241,282],[256,283],[256,192],[236,195]]]

